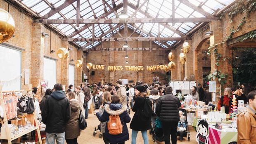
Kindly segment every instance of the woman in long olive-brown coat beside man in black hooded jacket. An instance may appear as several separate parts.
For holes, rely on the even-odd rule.
[[[65,139],[67,144],[78,144],[77,137],[80,135],[79,127],[79,103],[75,99],[75,94],[69,92],[66,94],[69,98],[69,103],[71,107],[71,114],[69,122],[65,126]]]

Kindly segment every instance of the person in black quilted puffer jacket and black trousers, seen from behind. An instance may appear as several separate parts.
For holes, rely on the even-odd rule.
[[[172,87],[166,87],[166,95],[160,97],[156,104],[156,114],[162,123],[165,144],[170,144],[170,134],[171,143],[177,144],[177,127],[180,121],[178,109],[181,103],[172,92]]]

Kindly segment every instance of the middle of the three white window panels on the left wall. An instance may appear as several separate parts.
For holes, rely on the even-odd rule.
[[[43,78],[47,84],[47,88],[52,89],[56,84],[56,60],[44,57]]]

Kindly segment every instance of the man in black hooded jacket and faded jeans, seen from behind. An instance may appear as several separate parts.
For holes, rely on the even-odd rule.
[[[46,125],[47,144],[55,144],[55,139],[57,144],[64,144],[65,125],[69,121],[71,108],[62,84],[55,84],[54,90],[43,106],[42,121]]]

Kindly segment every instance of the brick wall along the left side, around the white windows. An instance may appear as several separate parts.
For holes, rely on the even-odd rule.
[[[5,0],[0,0],[0,8],[8,11],[8,4]],[[67,48],[68,44],[66,42],[66,44],[63,45],[59,35],[50,32],[50,30],[44,28],[42,24],[33,23],[31,17],[28,17],[12,5],[9,5],[9,13],[15,21],[15,37],[9,39],[5,43],[24,49],[24,51],[21,52],[21,71],[30,69],[30,83],[33,87],[37,87],[38,80],[43,80],[43,57],[47,56],[53,59],[58,59],[56,54],[57,50],[62,46]],[[41,32],[48,33],[50,36],[48,38],[42,37]],[[50,49],[55,52],[50,53]],[[74,59],[74,62],[71,62],[70,59],[66,60],[66,66],[68,66],[69,63],[75,64],[77,59],[81,59],[81,53],[81,51],[77,51],[77,49],[73,47],[71,58]],[[68,67],[63,68],[62,60],[60,59],[57,60],[56,64],[57,83],[64,82],[64,84],[68,86]],[[75,85],[80,85],[81,69],[75,73]],[[24,85],[24,77],[22,77],[21,89],[27,88],[28,85]],[[40,90],[38,91],[40,92]]]

